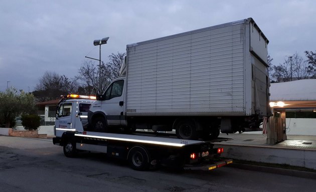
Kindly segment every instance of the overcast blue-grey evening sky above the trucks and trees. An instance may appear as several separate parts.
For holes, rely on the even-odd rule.
[[[107,62],[126,44],[248,17],[273,64],[316,50],[315,0],[0,0],[0,91],[33,91],[45,71],[78,75],[85,56],[99,56],[94,39],[110,37]]]

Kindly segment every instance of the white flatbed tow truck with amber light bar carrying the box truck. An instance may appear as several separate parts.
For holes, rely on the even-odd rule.
[[[127,160],[136,170],[146,170],[159,164],[187,170],[212,170],[233,162],[231,159],[220,159],[223,148],[214,148],[213,144],[229,138],[203,141],[173,138],[170,134],[90,131],[83,123],[86,115],[80,111],[80,106],[91,104],[91,99],[80,96],[68,96],[58,105],[53,143],[63,146],[67,157],[75,157],[78,151],[106,153],[109,157]]]

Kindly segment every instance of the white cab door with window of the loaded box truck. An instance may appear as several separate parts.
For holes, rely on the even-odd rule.
[[[120,125],[123,118],[124,80],[112,82],[103,94],[102,110],[108,125]]]

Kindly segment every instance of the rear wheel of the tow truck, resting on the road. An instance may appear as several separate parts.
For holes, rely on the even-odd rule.
[[[146,170],[149,168],[148,152],[141,146],[134,146],[128,152],[128,162],[135,170]]]

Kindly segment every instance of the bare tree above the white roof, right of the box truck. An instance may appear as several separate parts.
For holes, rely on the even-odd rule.
[[[291,56],[287,56],[283,64],[272,64],[270,66],[271,79],[276,82],[305,79],[309,78],[311,74],[307,62],[296,52]]]

